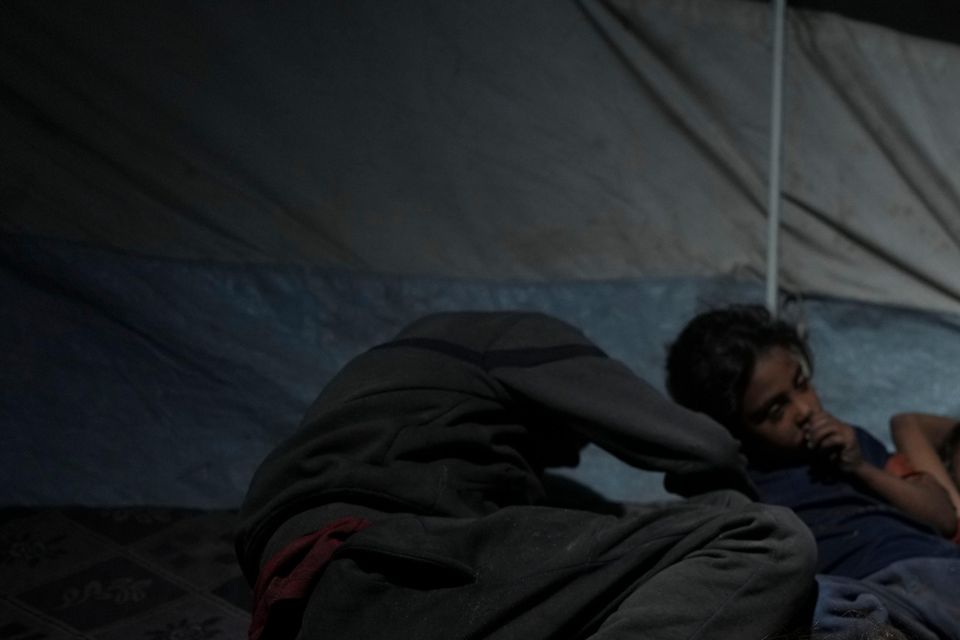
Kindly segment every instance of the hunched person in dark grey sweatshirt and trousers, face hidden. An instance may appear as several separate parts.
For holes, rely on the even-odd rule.
[[[546,506],[544,470],[588,442],[704,495],[619,516]],[[237,540],[251,638],[809,629],[812,538],[752,492],[730,434],[569,324],[428,316],[350,362],[257,471]]]

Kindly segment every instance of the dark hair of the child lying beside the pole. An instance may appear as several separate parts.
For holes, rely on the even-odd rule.
[[[667,390],[678,404],[704,413],[737,434],[743,395],[757,358],[773,347],[813,358],[792,325],[759,305],[733,305],[691,320],[667,356]]]

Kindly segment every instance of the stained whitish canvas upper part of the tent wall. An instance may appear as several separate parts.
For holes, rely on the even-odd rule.
[[[737,0],[0,8],[2,229],[549,280],[759,274],[770,12]],[[787,24],[783,281],[960,310],[960,50]]]

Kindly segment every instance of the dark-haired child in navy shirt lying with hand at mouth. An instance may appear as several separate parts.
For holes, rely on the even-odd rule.
[[[667,362],[674,400],[740,440],[760,500],[792,508],[810,527],[818,573],[872,579],[906,571],[925,584],[943,578],[931,571],[960,571],[960,547],[950,540],[957,515],[947,492],[928,474],[888,467],[891,456],[880,441],[824,410],[811,376],[807,344],[759,306],[695,317]],[[924,591],[909,604],[934,624],[940,620],[950,634],[943,637],[953,638],[960,637],[955,599],[955,588]]]

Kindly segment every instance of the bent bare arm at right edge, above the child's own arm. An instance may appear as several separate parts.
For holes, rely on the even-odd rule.
[[[954,509],[960,512],[960,491],[937,454],[956,424],[955,418],[901,413],[890,419],[890,435],[897,451],[907,456],[914,469],[929,473],[950,496]]]

